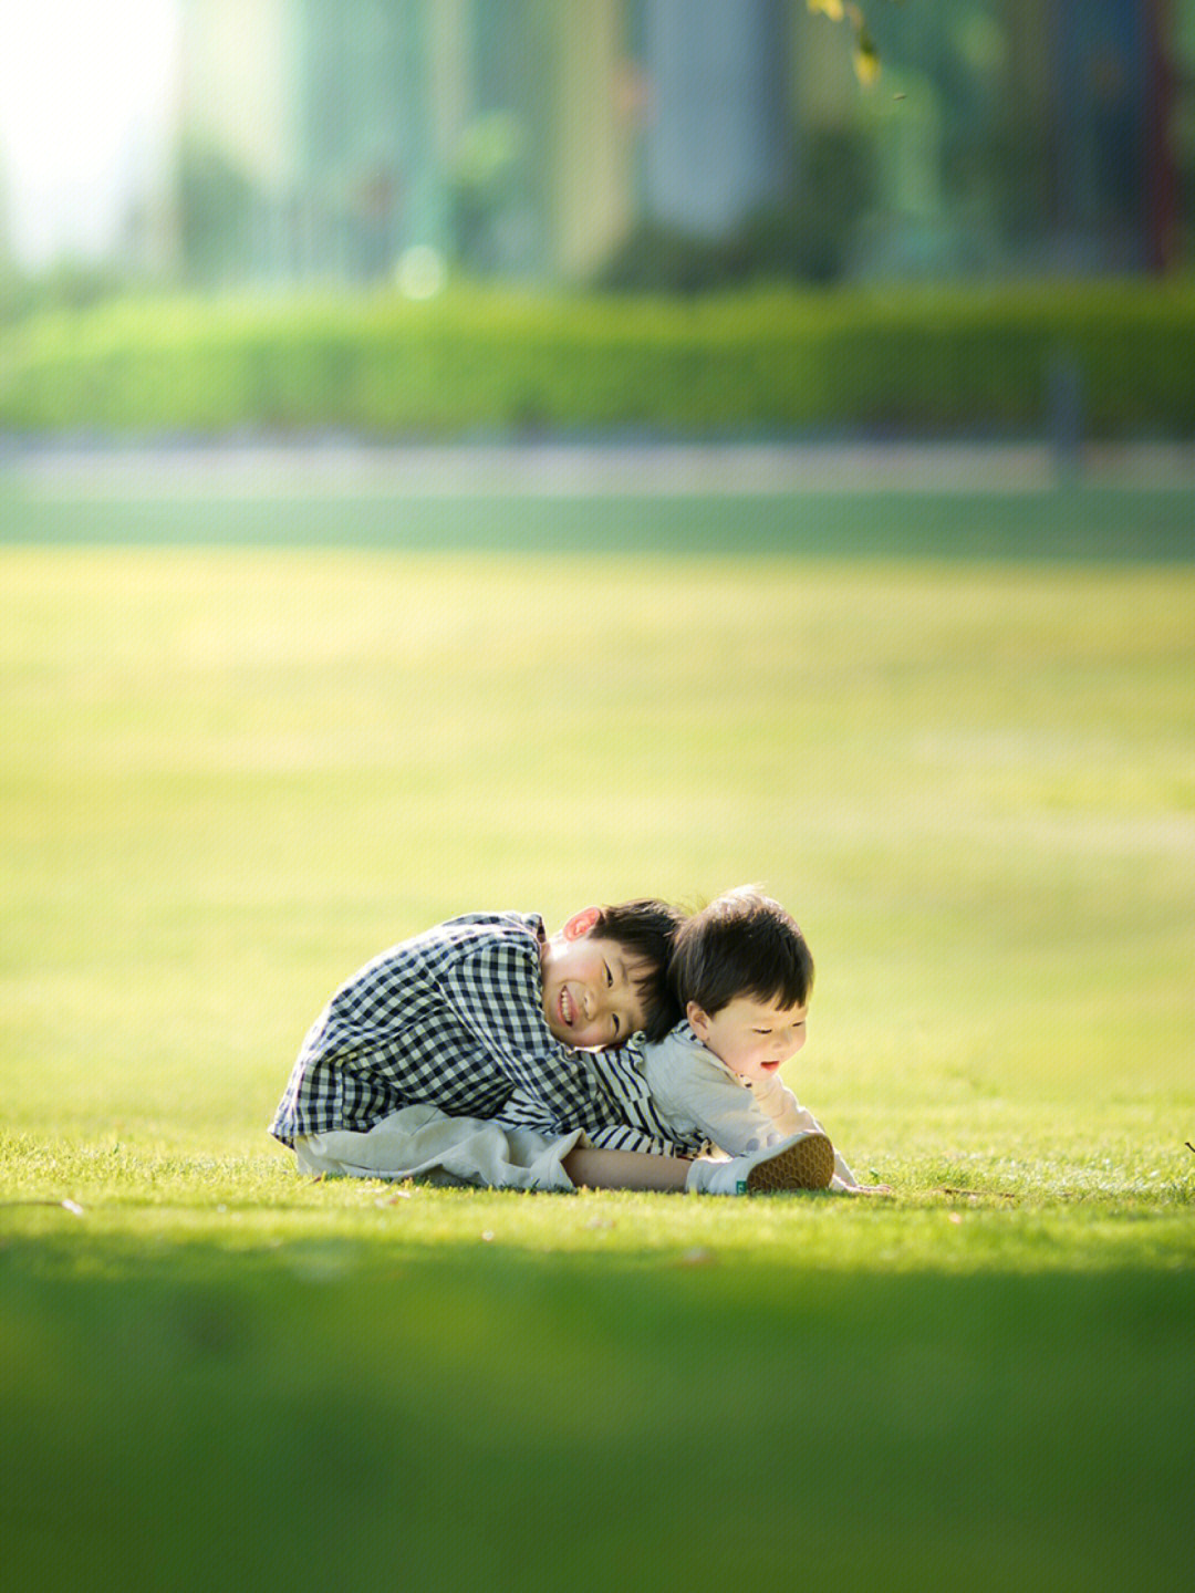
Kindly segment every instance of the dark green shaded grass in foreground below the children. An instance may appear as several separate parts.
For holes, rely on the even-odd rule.
[[[692,1262],[13,1241],[13,1585],[1179,1587],[1190,1273]]]

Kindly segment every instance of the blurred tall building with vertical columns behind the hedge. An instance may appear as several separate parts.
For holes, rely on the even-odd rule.
[[[183,0],[174,210],[201,282],[699,288],[1160,269],[1195,0]]]

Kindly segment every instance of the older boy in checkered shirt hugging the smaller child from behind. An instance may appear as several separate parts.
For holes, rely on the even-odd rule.
[[[787,1147],[690,1161],[621,1047],[679,1010],[679,910],[586,908],[548,937],[523,913],[470,913],[402,941],[323,1008],[271,1133],[301,1171],[430,1174],[516,1188],[809,1187]],[[598,1064],[601,1058],[601,1066]],[[829,1172],[827,1172],[829,1179]]]

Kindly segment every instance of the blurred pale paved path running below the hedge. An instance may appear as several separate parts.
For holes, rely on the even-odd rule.
[[[1039,492],[1058,459],[1034,443],[8,443],[0,475],[53,499]],[[1195,489],[1195,443],[1091,446],[1082,479]]]

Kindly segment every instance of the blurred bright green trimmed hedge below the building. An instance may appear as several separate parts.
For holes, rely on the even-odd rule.
[[[1037,430],[1060,362],[1090,435],[1189,435],[1195,282],[108,303],[6,331],[0,430]]]

